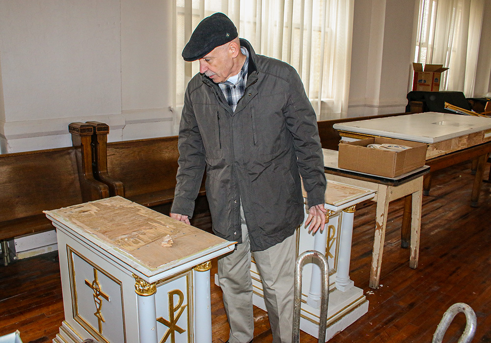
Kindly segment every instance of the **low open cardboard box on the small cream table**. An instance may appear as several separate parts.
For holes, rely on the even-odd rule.
[[[373,143],[406,145],[411,148],[398,152],[367,148],[368,144]],[[340,143],[338,167],[395,178],[424,166],[426,149],[426,143],[382,137]]]

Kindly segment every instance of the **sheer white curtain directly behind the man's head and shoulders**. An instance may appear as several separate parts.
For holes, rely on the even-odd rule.
[[[181,53],[193,29],[215,12],[225,13],[258,54],[296,68],[318,118],[348,108],[354,0],[177,0],[175,8],[175,108],[199,71]]]

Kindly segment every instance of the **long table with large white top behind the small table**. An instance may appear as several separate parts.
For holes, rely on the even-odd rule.
[[[490,118],[424,112],[337,123],[333,127],[345,141],[381,136],[427,143],[426,164],[432,172],[477,160],[471,196],[471,206],[477,206],[484,164],[491,153]],[[429,194],[430,187],[431,174],[427,174],[423,186],[425,195]]]

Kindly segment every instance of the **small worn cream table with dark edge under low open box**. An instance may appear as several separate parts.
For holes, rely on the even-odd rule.
[[[389,203],[408,195],[412,195],[410,211],[404,213],[403,223],[409,227],[409,235],[404,232],[404,240],[410,240],[409,266],[416,268],[419,257],[419,234],[421,229],[421,193],[423,176],[430,171],[430,167],[424,166],[397,178],[385,178],[376,175],[364,174],[355,171],[340,169],[337,166],[338,152],[323,149],[324,170],[327,180],[354,185],[376,191],[373,201],[377,202],[375,216],[375,237],[372,251],[372,267],[370,270],[370,287],[379,287],[380,271],[382,267],[383,243],[385,240],[385,228]],[[401,234],[401,237],[403,235]],[[410,238],[408,237],[410,236]]]

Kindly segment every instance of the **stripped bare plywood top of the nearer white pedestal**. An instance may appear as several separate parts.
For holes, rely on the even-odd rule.
[[[46,213],[69,228],[78,229],[87,239],[94,240],[95,236],[150,268],[216,245],[232,244],[119,196]],[[173,241],[170,247],[162,246],[167,235]]]

